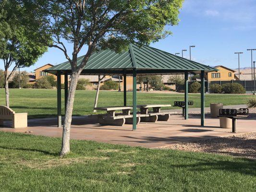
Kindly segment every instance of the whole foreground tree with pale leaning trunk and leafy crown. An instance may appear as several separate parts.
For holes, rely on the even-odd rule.
[[[70,62],[72,78],[66,103],[60,155],[70,151],[70,127],[75,87],[93,51],[122,52],[130,43],[156,42],[171,34],[165,26],[176,25],[183,0],[51,0],[38,1],[40,14],[48,14],[53,44]],[[47,4],[43,4],[47,3]],[[65,41],[73,44],[72,57]],[[87,45],[85,57],[77,65],[77,55]]]

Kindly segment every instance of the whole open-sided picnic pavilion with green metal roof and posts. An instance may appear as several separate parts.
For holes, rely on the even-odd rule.
[[[79,65],[84,56],[77,58]],[[175,56],[171,53],[149,46],[130,44],[128,50],[116,53],[112,50],[94,52],[81,75],[120,75],[123,76],[123,105],[126,106],[126,75],[133,76],[133,117],[136,117],[136,76],[153,74],[184,74],[185,120],[188,119],[188,73],[201,77],[201,126],[205,120],[205,73],[218,71],[201,63]],[[65,76],[65,103],[68,96],[68,75],[72,74],[69,61],[51,67],[45,72],[57,75],[57,115],[58,127],[61,127],[61,75]],[[136,118],[133,118],[133,130]]]

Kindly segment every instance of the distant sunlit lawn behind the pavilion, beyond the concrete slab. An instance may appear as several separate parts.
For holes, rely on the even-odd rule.
[[[73,115],[92,114],[96,91],[77,90]],[[246,104],[250,95],[207,94],[206,107],[210,103],[224,105]],[[183,100],[183,94],[137,93],[138,104],[171,104]],[[200,107],[200,94],[189,94],[195,108]],[[5,105],[4,89],[0,89],[0,105]],[[122,106],[123,93],[100,91],[98,107]],[[132,93],[127,93],[127,105],[132,105]],[[10,107],[15,112],[27,112],[29,118],[44,117],[57,114],[57,90],[53,89],[10,89]],[[64,114],[64,91],[62,90],[62,113]]]

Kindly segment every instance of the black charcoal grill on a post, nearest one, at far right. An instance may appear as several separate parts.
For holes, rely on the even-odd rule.
[[[248,108],[220,108],[219,117],[232,119],[232,132],[236,132],[236,120],[239,118],[248,117]]]

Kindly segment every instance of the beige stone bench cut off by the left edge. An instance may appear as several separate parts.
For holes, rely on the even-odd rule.
[[[11,108],[0,106],[0,125],[4,120],[12,120],[12,128],[27,127],[27,113],[15,113]]]

